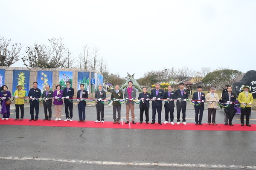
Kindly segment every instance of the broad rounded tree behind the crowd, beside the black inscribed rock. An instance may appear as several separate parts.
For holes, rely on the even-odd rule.
[[[219,85],[220,87],[225,88],[225,85],[232,85],[233,82],[236,82],[239,74],[241,74],[241,71],[237,70],[215,70],[208,73],[204,79],[202,79],[202,82],[204,84]]]

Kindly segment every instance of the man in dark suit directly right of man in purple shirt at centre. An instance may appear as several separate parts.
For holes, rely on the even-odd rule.
[[[146,116],[146,124],[148,124],[149,116],[148,116],[148,108],[149,108],[149,98],[150,93],[147,92],[148,88],[143,87],[143,92],[139,94],[138,99],[142,99],[140,102],[140,123],[143,122],[143,113],[145,111]]]

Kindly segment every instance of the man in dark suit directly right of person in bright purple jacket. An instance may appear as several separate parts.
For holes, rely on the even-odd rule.
[[[88,91],[84,90],[84,84],[80,84],[80,90],[77,91],[76,100],[77,100],[77,107],[78,107],[78,122],[85,122],[85,106],[86,102],[84,99],[88,98]]]

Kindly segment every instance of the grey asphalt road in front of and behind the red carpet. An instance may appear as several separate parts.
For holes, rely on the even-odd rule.
[[[54,111],[54,107],[52,109]],[[64,106],[62,111],[64,119]],[[73,111],[74,121],[78,120],[76,105]],[[41,106],[39,119],[44,119],[43,113]],[[152,111],[149,113],[151,117]],[[121,116],[125,121],[125,106],[122,106]],[[135,121],[139,122],[137,106],[135,116]],[[11,118],[15,118],[15,114],[11,114]],[[30,118],[29,107],[25,108],[24,118]],[[186,118],[187,123],[195,122],[195,112],[190,104]],[[233,123],[240,123],[239,119],[240,115],[236,115]],[[255,111],[250,119],[250,124],[256,124],[253,120],[256,119]],[[93,105],[86,107],[86,120],[96,120]],[[111,106],[105,107],[105,121],[113,121]],[[202,123],[207,123],[207,108]],[[220,109],[217,110],[216,123],[224,123]],[[255,141],[254,131],[0,125],[0,167],[3,170],[256,169]]]

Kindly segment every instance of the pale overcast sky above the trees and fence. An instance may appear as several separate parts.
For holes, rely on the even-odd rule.
[[[256,0],[0,0],[0,6],[0,36],[23,50],[51,37],[63,37],[75,57],[83,45],[97,45],[110,73],[122,77],[172,67],[256,69]]]

